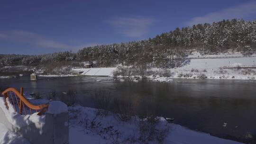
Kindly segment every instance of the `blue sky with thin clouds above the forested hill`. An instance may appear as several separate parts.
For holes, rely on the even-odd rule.
[[[176,27],[256,19],[256,0],[0,0],[0,54],[76,52]]]

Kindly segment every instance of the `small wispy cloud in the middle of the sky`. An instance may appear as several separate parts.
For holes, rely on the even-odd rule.
[[[123,36],[141,37],[148,33],[154,21],[153,18],[147,17],[129,17],[114,18],[108,20],[107,23],[115,27]]]

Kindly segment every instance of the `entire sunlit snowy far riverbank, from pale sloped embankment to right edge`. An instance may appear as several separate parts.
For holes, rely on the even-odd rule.
[[[167,81],[171,78],[185,79],[236,79],[236,80],[254,80],[256,79],[256,57],[242,57],[241,53],[223,53],[214,55],[200,55],[192,53],[189,57],[213,57],[227,56],[236,58],[200,58],[185,60],[180,67],[173,69],[151,68],[147,70],[137,70],[128,66],[118,66],[112,68],[89,68],[73,69],[73,72],[80,75],[89,76],[116,76],[123,78],[148,78],[153,81]],[[233,67],[231,69],[230,67]],[[243,68],[243,66],[249,66]],[[236,67],[236,68],[234,68]],[[141,75],[143,73],[143,75]]]

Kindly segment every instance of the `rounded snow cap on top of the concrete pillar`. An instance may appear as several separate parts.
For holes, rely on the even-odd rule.
[[[49,114],[60,114],[60,113],[64,113],[67,112],[67,105],[64,104],[61,101],[51,101],[49,103],[49,107],[47,110],[47,113]]]

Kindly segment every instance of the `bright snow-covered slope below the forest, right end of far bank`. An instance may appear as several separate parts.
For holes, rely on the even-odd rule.
[[[256,57],[191,59],[182,67],[170,69],[172,78],[244,79],[256,78],[256,69],[223,69],[224,66],[256,66]]]

